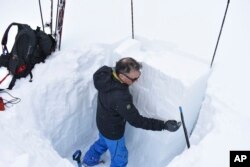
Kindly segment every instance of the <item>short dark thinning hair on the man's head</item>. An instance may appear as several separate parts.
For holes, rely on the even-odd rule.
[[[125,57],[116,62],[115,71],[117,74],[139,71],[142,65],[131,57]]]

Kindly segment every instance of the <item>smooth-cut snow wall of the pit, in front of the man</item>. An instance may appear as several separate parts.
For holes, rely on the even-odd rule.
[[[209,65],[188,54],[180,54],[178,50],[160,47],[167,45],[159,41],[127,40],[115,52],[120,57],[134,57],[142,62],[141,77],[131,86],[134,104],[140,114],[164,121],[181,121],[179,106],[182,106],[190,135],[205,96]],[[129,162],[136,163],[133,166],[167,165],[186,147],[183,128],[175,133],[153,132],[128,125],[125,137]],[[159,155],[159,152],[165,154]]]

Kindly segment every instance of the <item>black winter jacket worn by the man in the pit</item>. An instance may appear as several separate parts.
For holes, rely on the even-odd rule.
[[[117,140],[124,135],[125,124],[147,130],[163,130],[164,122],[139,114],[133,104],[128,85],[112,75],[112,68],[103,66],[93,76],[98,90],[96,122],[100,133]]]

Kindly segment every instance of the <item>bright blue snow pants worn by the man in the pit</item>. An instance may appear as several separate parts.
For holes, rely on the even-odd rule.
[[[99,139],[86,152],[83,163],[88,166],[97,165],[101,155],[109,150],[111,155],[110,167],[125,167],[128,163],[128,150],[124,137],[118,140],[110,140],[99,133]]]

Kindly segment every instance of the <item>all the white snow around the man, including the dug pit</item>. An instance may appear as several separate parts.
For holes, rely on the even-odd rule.
[[[41,1],[47,22],[50,1]],[[12,22],[41,26],[38,1],[1,2],[0,37]],[[0,112],[0,166],[76,166],[73,152],[85,152],[98,136],[92,75],[125,56],[144,66],[131,86],[140,113],[180,120],[182,106],[191,134],[187,149],[182,128],[170,133],[127,125],[127,166],[229,166],[230,150],[250,150],[250,1],[230,1],[210,69],[226,4],[227,0],[134,0],[132,40],[130,0],[67,1],[61,51],[35,66],[32,83],[29,77],[20,79],[8,91],[21,101]],[[0,78],[6,73],[0,68]],[[0,96],[11,99],[7,93]],[[106,163],[100,166],[108,167],[109,153],[102,158]]]

